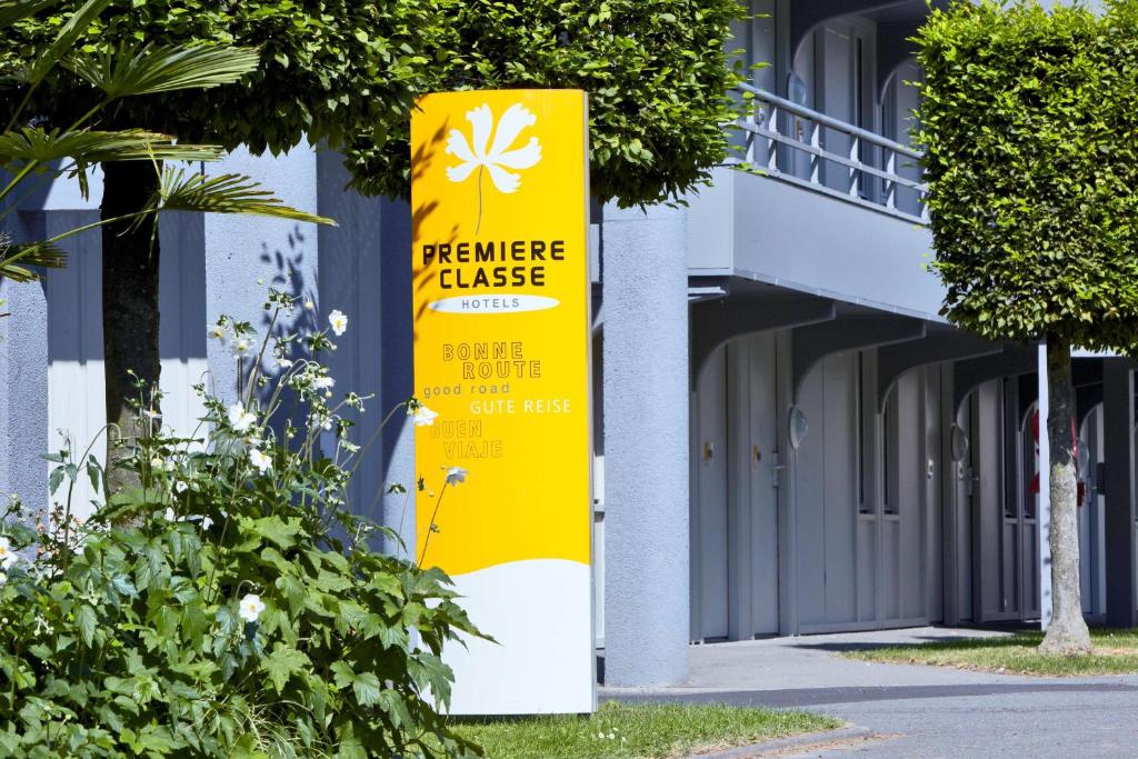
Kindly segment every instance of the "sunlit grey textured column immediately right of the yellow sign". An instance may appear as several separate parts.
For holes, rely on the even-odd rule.
[[[605,209],[605,684],[687,675],[686,213]]]

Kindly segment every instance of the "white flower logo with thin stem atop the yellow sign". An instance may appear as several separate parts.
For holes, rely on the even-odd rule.
[[[447,166],[446,176],[452,182],[464,182],[476,168],[478,170],[478,222],[475,225],[475,234],[478,234],[483,225],[484,174],[489,173],[490,182],[498,192],[513,193],[521,185],[521,176],[506,170],[521,171],[536,165],[542,159],[542,143],[536,137],[530,137],[523,147],[511,149],[521,131],[537,123],[537,116],[520,102],[505,109],[496,129],[494,113],[485,102],[468,110],[467,121],[471,126],[469,142],[467,135],[456,129],[451,130],[446,138],[446,154],[462,162],[457,166]],[[493,143],[490,143],[492,132]]]

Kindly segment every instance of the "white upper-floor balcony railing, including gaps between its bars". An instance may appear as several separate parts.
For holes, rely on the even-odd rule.
[[[749,84],[753,115],[741,119],[745,160],[768,176],[925,223],[921,154]],[[908,168],[909,175],[900,172]]]

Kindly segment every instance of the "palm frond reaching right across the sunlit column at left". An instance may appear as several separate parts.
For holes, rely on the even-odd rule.
[[[336,225],[327,216],[286,206],[272,191],[241,174],[205,176],[184,168],[166,167],[150,211],[197,211],[209,214],[247,214]]]

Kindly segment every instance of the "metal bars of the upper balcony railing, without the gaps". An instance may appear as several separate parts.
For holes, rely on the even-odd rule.
[[[751,84],[739,84],[737,89],[752,94],[758,106],[751,117],[743,118],[739,123],[739,126],[747,133],[747,156],[749,163],[764,167],[765,173],[769,176],[799,184],[817,192],[868,206],[907,220],[917,222],[927,221],[927,209],[923,203],[924,196],[927,193],[927,185],[897,173],[898,156],[902,157],[902,159],[917,160],[921,158],[918,151],[881,134],[875,134],[860,126],[849,124],[833,116],[827,116],[806,106],[800,106]],[[785,130],[781,129],[778,124],[780,113],[797,119],[795,129],[799,131],[798,134],[787,135],[784,133]],[[802,139],[803,121],[809,124],[810,133],[808,139]],[[833,130],[848,135],[850,138],[848,152],[843,155],[827,150],[822,139],[822,129]],[[768,155],[765,159],[757,159],[759,156],[756,155],[758,151],[756,138],[761,138],[768,143]],[[782,151],[778,149],[780,146],[784,148]],[[864,146],[871,146],[882,151],[880,166],[861,159]],[[791,171],[783,170],[781,164],[785,163],[785,157],[781,160],[778,154],[789,150],[806,154],[809,157],[809,178],[800,175],[800,172],[797,172],[793,167]],[[824,166],[826,168],[823,168]],[[840,167],[848,176],[849,185],[846,188],[846,191],[831,187],[833,182],[824,181],[822,178],[823,171],[825,171],[828,180],[830,171],[834,166]],[[874,182],[873,180],[877,181]],[[880,184],[880,190],[876,187],[877,184]],[[917,201],[921,206],[920,213],[914,214],[897,207],[898,188],[908,188],[917,193]]]

